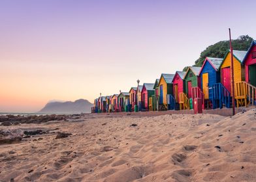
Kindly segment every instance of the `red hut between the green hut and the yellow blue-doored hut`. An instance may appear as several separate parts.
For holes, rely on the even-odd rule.
[[[185,76],[185,72],[177,71],[174,74],[174,78],[172,80],[173,96],[175,98],[176,103],[180,102],[179,94],[184,92],[184,88],[185,88],[184,76]]]

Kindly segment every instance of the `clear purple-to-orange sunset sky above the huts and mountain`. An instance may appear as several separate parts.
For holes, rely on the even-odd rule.
[[[0,112],[93,100],[191,66],[220,40],[248,34],[256,1],[1,0]]]

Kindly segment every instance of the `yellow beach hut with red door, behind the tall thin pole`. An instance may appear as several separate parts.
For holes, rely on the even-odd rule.
[[[245,81],[245,70],[242,61],[246,56],[247,51],[233,50],[233,64],[234,64],[234,98],[236,99],[236,105],[246,105],[246,96],[240,91],[244,90],[243,81]],[[220,66],[221,71],[221,83],[231,93],[231,51],[227,51]]]

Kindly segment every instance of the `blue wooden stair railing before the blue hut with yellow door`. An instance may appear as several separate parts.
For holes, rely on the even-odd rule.
[[[212,102],[212,108],[231,107],[231,93],[221,83],[209,86],[209,99]]]

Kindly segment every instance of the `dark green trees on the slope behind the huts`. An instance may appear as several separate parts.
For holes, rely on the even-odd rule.
[[[242,36],[239,36],[237,39],[232,40],[232,47],[234,50],[247,51],[249,48],[249,45],[251,45],[251,41],[253,41],[253,38],[251,38],[248,35],[242,35]],[[202,66],[204,59],[206,57],[223,58],[225,56],[225,53],[227,53],[228,49],[229,49],[229,40],[220,41],[214,45],[210,45],[204,51],[202,51],[202,53],[200,53],[199,59],[195,61],[195,65],[193,66]],[[186,70],[187,70],[187,67],[184,68],[184,71]]]

